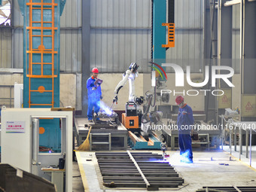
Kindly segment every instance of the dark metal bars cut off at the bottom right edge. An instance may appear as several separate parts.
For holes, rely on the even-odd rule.
[[[204,191],[215,191],[215,192],[251,192],[256,191],[256,186],[249,187],[249,186],[243,186],[243,187],[203,187],[203,189],[197,190],[197,192],[204,192]]]

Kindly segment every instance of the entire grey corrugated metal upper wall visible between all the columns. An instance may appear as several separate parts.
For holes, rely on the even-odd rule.
[[[61,17],[61,72],[81,72],[81,2],[68,0]],[[175,47],[166,52],[167,62],[190,65],[191,72],[203,67],[203,2],[175,1]],[[0,29],[0,68],[23,68],[23,17],[17,0],[14,25],[13,36],[11,29]],[[145,64],[151,58],[151,0],[91,0],[90,25],[90,63],[102,72],[123,72],[130,62]],[[239,5],[235,5],[233,58],[239,58],[239,51]],[[239,69],[239,62],[233,66]]]

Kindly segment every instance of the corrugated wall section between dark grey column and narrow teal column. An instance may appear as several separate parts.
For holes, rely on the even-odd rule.
[[[92,0],[90,64],[124,72],[151,58],[151,0]]]

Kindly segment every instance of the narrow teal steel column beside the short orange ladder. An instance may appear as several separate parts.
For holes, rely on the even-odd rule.
[[[166,61],[166,0],[153,0],[153,62],[161,64]]]

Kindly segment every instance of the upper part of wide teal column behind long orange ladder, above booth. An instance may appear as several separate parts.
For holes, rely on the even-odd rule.
[[[32,2],[41,2],[43,0],[38,0],[38,1],[32,1]],[[29,78],[26,76],[28,74],[28,62],[29,62],[29,56],[26,53],[26,50],[28,50],[29,46],[29,32],[26,29],[26,26],[29,26],[29,8],[26,5],[29,0],[23,1],[19,0],[19,5],[20,5],[20,11],[22,12],[24,16],[24,32],[23,32],[23,39],[24,39],[24,47],[23,47],[23,84],[24,84],[24,90],[23,90],[23,106],[24,108],[29,107]],[[44,1],[44,2],[51,2],[51,0]],[[55,8],[54,11],[54,26],[57,27],[58,29],[55,32],[54,35],[54,50],[58,51],[58,53],[54,54],[54,74],[56,75],[56,78],[54,78],[54,107],[59,107],[59,22],[60,22],[60,16],[62,14],[63,8],[65,6],[66,0],[55,0],[55,3],[58,4],[58,6]],[[33,17],[40,17],[40,15],[33,13]],[[50,19],[51,20],[51,15],[50,14],[44,14],[45,19]],[[45,38],[46,40],[47,38]],[[51,41],[44,41],[44,46],[47,47],[50,44]],[[33,42],[34,45],[35,42]],[[45,58],[47,58],[45,56]],[[34,56],[33,56],[34,59]],[[51,59],[49,59],[51,60]],[[33,61],[35,62],[35,61]],[[45,61],[44,61],[45,62]],[[49,69],[44,69],[46,72]],[[49,79],[43,79],[43,78],[38,78],[33,80],[33,86],[34,89],[35,87],[38,87],[40,85],[46,84],[48,87],[50,87],[51,84],[49,82]],[[51,95],[47,93],[33,93],[33,96],[30,97],[31,100],[34,103],[44,103],[51,99]],[[39,102],[37,102],[39,101]],[[34,107],[43,107],[40,105],[36,105]],[[49,106],[48,106],[49,107]]]

